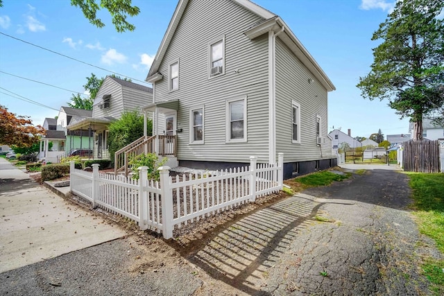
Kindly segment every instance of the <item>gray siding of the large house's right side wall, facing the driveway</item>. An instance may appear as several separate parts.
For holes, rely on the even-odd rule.
[[[309,83],[309,78],[313,82]],[[292,101],[300,104],[300,143],[292,143]],[[321,116],[321,137],[316,145],[316,115]],[[276,152],[285,162],[332,157],[327,137],[327,90],[279,39],[276,40]]]

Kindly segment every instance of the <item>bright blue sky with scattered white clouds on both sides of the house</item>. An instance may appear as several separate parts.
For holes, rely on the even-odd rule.
[[[219,1],[219,0],[214,0]],[[370,71],[370,40],[393,8],[390,0],[255,0],[279,15],[330,77],[336,91],[329,93],[328,128],[352,130],[352,137],[407,133],[408,119],[400,120],[386,101],[368,101],[356,85]],[[96,28],[69,0],[4,0],[0,32],[67,55],[87,64],[45,51],[0,34],[0,105],[10,112],[31,116],[43,124],[70,102],[71,92],[83,93],[86,77],[110,74],[101,67],[128,76],[146,78],[149,66],[167,29],[176,0],[133,0],[140,8],[134,32],[117,33],[108,12],[100,12],[104,28]],[[3,73],[6,72],[6,73]],[[37,80],[63,89],[15,76]],[[15,93],[41,105],[19,100]],[[50,109],[49,107],[55,109]],[[56,111],[57,110],[57,111]]]

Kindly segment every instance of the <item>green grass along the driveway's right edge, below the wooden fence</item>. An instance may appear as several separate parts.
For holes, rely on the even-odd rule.
[[[417,218],[418,228],[436,241],[444,254],[444,174],[407,173],[414,200],[411,209]],[[436,295],[444,295],[444,261],[426,259],[422,270],[432,282]]]

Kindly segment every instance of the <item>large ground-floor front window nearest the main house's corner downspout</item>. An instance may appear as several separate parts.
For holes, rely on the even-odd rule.
[[[243,142],[247,140],[246,123],[247,123],[247,100],[237,98],[227,100],[227,141]]]

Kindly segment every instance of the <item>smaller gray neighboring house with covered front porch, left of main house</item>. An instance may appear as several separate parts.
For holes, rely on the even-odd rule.
[[[91,143],[94,158],[106,158],[108,153],[108,126],[120,119],[125,111],[141,110],[143,105],[153,102],[153,89],[134,82],[106,76],[96,94],[92,116],[71,121],[69,133],[78,134],[79,130],[89,131],[85,141]],[[88,134],[85,132],[84,134]]]

